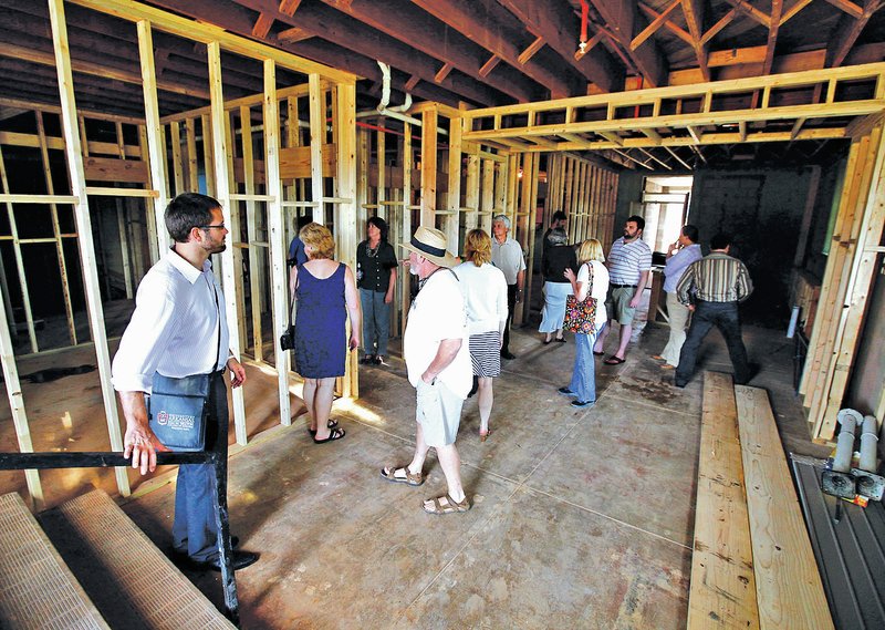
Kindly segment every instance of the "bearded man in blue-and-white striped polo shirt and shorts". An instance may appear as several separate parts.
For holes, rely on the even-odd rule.
[[[608,297],[605,300],[605,312],[608,313],[608,324],[600,332],[600,338],[593,347],[593,354],[603,353],[605,338],[612,328],[612,322],[621,324],[621,339],[617,350],[603,363],[617,365],[624,362],[631,334],[633,333],[633,317],[636,307],[643,297],[643,290],[648,283],[648,273],[652,271],[652,249],[643,240],[645,219],[632,216],[624,224],[624,236],[612,244],[608,252]]]

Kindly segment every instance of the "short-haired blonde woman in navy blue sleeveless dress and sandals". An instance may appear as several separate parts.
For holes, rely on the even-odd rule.
[[[309,431],[316,444],[344,437],[344,430],[330,421],[335,379],[344,375],[347,349],[360,347],[362,312],[353,271],[332,259],[335,241],[320,224],[308,224],[299,233],[308,261],[292,268],[290,289],[295,296],[295,371],[304,379],[304,404]],[[351,339],[345,321],[351,318]]]

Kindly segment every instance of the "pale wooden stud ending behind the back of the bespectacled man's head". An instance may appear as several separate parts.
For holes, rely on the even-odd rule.
[[[156,262],[160,256],[166,256],[171,246],[166,221],[163,218],[166,206],[169,205],[169,188],[166,185],[165,158],[166,142],[163,137],[163,127],[159,124],[159,104],[157,103],[157,76],[154,73],[154,38],[150,32],[150,22],[139,20],[138,53],[142,60],[142,87],[145,101],[145,135],[147,138],[147,161],[150,169],[150,187],[158,195],[152,198],[154,209],[154,226],[157,237],[157,256],[152,249],[152,259]],[[145,159],[142,146],[142,159]]]

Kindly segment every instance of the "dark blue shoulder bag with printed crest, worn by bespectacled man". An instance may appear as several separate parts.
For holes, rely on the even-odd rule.
[[[216,362],[221,359],[221,310],[218,291],[215,292],[215,309],[218,314],[218,351]],[[223,370],[222,370],[223,371]],[[206,425],[209,420],[210,374],[194,374],[175,379],[154,373],[150,395],[146,397],[147,422],[160,444],[170,451],[183,453],[206,450]]]

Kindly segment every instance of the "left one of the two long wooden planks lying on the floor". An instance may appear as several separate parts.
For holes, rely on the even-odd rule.
[[[759,628],[731,376],[704,374],[689,629]]]

